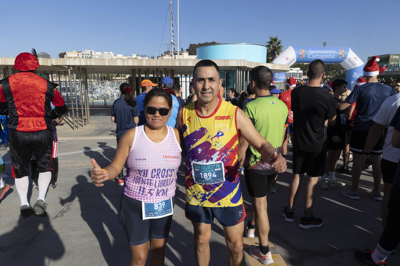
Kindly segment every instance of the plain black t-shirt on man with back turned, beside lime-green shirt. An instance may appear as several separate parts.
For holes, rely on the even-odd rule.
[[[319,87],[304,85],[292,90],[294,151],[322,152],[324,122],[336,115],[335,99]]]

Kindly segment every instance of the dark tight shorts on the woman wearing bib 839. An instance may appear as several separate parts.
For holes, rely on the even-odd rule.
[[[175,197],[172,197],[174,204]],[[124,194],[121,196],[121,207],[118,211],[120,224],[124,226],[130,246],[138,246],[148,241],[148,238],[164,239],[170,234],[172,215],[158,219],[142,219],[142,201],[132,199]]]

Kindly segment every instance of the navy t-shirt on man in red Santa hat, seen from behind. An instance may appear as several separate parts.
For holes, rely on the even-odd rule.
[[[353,130],[370,130],[374,124],[372,118],[379,111],[384,100],[397,93],[392,87],[379,82],[368,82],[355,88],[346,98],[351,104],[357,102]]]

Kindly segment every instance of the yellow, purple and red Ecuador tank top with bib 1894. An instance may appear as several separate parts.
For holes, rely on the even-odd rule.
[[[238,175],[238,107],[219,99],[214,112],[200,116],[196,101],[182,108],[186,144],[186,202],[203,207],[241,205]]]

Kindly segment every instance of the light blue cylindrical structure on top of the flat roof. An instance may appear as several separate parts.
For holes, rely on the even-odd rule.
[[[250,43],[221,43],[198,47],[197,59],[267,62],[267,47]]]

